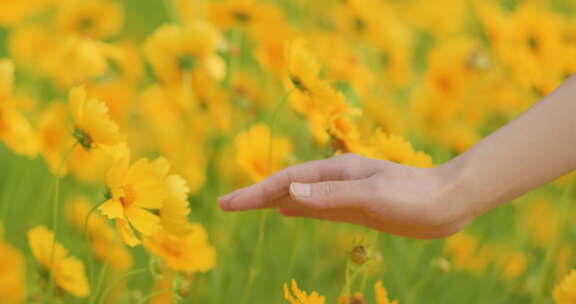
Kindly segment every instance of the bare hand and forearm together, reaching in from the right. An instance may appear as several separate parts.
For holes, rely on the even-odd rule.
[[[226,211],[277,208],[412,238],[454,234],[576,170],[576,76],[471,149],[434,168],[344,154],[286,168],[220,197]]]

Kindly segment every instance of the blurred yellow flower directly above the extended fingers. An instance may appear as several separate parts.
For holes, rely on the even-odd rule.
[[[254,125],[238,134],[234,144],[238,165],[253,181],[280,170],[292,150],[292,144],[285,137],[274,136],[270,146],[270,129],[265,124]]]

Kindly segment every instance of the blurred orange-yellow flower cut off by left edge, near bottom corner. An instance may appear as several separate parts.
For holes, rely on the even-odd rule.
[[[24,259],[22,254],[0,239],[0,298],[2,303],[16,304],[24,299]]]

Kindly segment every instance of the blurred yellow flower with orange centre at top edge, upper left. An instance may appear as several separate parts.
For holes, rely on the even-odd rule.
[[[65,34],[104,39],[118,33],[123,17],[122,7],[118,3],[72,0],[60,6],[56,24]]]

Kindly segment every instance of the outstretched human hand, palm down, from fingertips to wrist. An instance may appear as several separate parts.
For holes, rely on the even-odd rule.
[[[286,168],[219,198],[226,211],[277,208],[382,232],[440,238],[470,220],[450,167],[414,168],[356,154]]]

